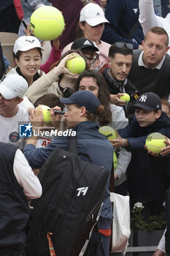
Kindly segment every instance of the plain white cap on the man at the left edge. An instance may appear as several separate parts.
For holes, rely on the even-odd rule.
[[[21,75],[7,75],[0,83],[0,94],[5,99],[23,98],[27,90],[28,83]]]

